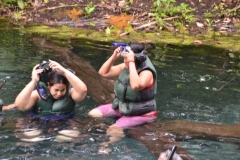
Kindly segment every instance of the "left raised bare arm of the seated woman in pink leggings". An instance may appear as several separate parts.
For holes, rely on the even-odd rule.
[[[102,65],[98,73],[105,78],[116,78],[124,68],[124,63],[113,65],[114,62],[120,57],[120,47],[116,48],[112,56]]]

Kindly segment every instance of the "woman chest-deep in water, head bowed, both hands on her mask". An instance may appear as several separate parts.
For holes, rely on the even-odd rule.
[[[32,110],[34,114],[73,112],[75,104],[87,94],[86,85],[59,63],[49,60],[46,64],[48,68],[40,64],[33,68],[32,80],[18,94],[14,104],[19,110]]]

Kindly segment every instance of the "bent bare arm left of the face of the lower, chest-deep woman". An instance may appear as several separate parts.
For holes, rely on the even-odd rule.
[[[32,70],[32,80],[26,85],[26,87],[18,94],[15,99],[15,105],[19,110],[28,110],[33,107],[39,99],[37,91],[35,89],[36,83],[39,81],[39,74],[43,72],[42,69],[37,69],[39,65],[36,65]]]

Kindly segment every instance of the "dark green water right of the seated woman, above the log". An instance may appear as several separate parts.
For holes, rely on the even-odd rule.
[[[190,51],[187,46],[176,46],[175,50],[168,50],[168,57],[163,60],[168,66],[158,70],[160,93],[157,98],[162,111],[160,121],[187,119],[209,122],[210,117],[210,122],[214,123],[239,121],[239,116],[234,116],[236,121],[230,122],[224,117],[226,114],[221,115],[229,104],[239,104],[236,92],[239,88],[236,76],[239,67],[233,65],[237,65],[239,59],[230,58],[230,51],[207,49],[199,48],[200,53],[196,55],[192,54],[198,48]],[[235,68],[235,71],[230,71],[231,68]],[[235,113],[239,114],[238,110]]]

